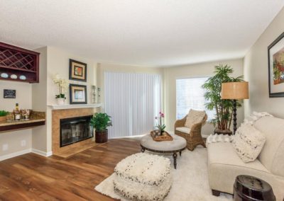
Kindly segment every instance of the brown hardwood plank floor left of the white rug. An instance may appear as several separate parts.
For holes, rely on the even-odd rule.
[[[112,139],[68,159],[31,153],[1,161],[0,200],[113,200],[94,186],[139,151],[137,139]]]

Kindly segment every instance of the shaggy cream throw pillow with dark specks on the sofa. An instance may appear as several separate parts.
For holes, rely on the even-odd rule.
[[[232,145],[236,154],[247,163],[256,160],[265,142],[266,137],[262,132],[252,125],[243,125],[236,130]]]

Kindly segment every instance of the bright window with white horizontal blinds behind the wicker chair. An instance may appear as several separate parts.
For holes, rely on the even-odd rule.
[[[207,120],[214,119],[215,111],[205,108],[205,103],[209,101],[205,101],[205,89],[202,85],[207,79],[208,77],[198,77],[176,80],[177,119],[185,117],[190,109],[205,110],[208,115]]]

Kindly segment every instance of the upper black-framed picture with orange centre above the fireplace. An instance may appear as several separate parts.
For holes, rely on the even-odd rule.
[[[69,59],[69,79],[87,81],[87,64]]]

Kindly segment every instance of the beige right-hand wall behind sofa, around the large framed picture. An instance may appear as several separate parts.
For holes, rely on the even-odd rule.
[[[250,98],[245,101],[245,116],[253,111],[266,111],[284,117],[284,98],[269,98],[268,45],[284,31],[284,8],[244,57],[244,75],[249,81]],[[283,91],[284,91],[284,84]]]

